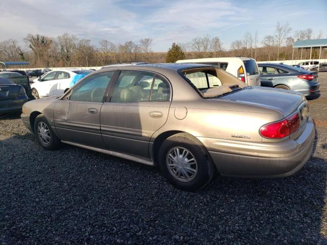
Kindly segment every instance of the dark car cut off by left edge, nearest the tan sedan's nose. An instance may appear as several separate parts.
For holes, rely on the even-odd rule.
[[[0,114],[21,111],[28,101],[25,89],[7,78],[0,77]]]

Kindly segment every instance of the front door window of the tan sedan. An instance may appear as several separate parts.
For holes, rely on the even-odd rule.
[[[102,102],[114,71],[106,71],[81,80],[73,89],[71,101]]]

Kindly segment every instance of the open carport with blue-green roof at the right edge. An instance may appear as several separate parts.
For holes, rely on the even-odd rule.
[[[309,48],[310,48],[309,60],[313,59],[312,49],[315,52],[316,48],[319,48],[319,59],[322,59],[322,50],[323,50],[323,48],[327,48],[327,39],[298,40],[298,41],[294,42],[292,60],[294,58],[295,48],[297,48],[296,60],[298,60],[298,53],[299,53],[300,50],[301,50],[300,60],[302,60],[303,49],[305,50],[305,52],[307,54],[307,50],[309,50]],[[307,59],[306,55],[305,55],[305,59]]]

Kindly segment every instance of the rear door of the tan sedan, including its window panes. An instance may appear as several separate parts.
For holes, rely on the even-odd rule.
[[[122,70],[111,90],[100,115],[107,149],[149,159],[150,138],[168,118],[170,83],[152,72]]]

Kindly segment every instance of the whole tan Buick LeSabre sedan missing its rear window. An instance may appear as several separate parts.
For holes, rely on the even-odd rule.
[[[159,165],[171,183],[191,191],[216,170],[292,175],[315,137],[305,96],[247,86],[222,69],[190,63],[100,69],[62,96],[26,103],[21,118],[45,149],[63,142]]]

